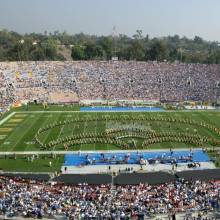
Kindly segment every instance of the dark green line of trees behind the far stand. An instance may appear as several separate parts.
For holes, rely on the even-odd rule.
[[[67,56],[69,53],[69,56]],[[161,38],[144,36],[141,30],[129,37],[95,36],[83,33],[19,34],[0,31],[0,61],[43,60],[119,60],[179,61],[185,63],[220,63],[220,45],[199,36],[178,35]]]

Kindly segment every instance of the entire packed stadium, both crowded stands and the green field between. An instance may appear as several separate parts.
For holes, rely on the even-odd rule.
[[[219,69],[157,62],[2,62],[2,196],[28,183],[43,202],[52,184],[47,209],[26,209],[26,217],[211,215],[220,180]],[[196,190],[193,204],[178,187],[187,194]],[[85,189],[83,198],[77,192]],[[151,197],[154,190],[161,192]],[[55,205],[59,194],[62,201]],[[99,204],[92,202],[98,198]],[[63,206],[65,201],[72,205]],[[80,203],[85,208],[73,208]],[[19,209],[5,213],[17,215]]]

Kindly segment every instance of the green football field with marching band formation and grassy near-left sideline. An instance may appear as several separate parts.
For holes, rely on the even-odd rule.
[[[44,110],[41,105],[30,105],[0,118],[0,170],[4,171],[59,171],[64,150],[215,146],[220,146],[218,111],[85,113],[79,111],[79,106],[53,105]],[[63,153],[56,158],[50,153],[40,155],[30,162],[28,153],[45,150]],[[5,152],[16,154],[5,156]]]

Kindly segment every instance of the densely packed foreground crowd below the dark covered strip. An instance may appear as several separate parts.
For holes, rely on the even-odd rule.
[[[161,185],[64,185],[0,177],[0,215],[124,219],[185,211],[213,211],[219,182],[178,180]]]

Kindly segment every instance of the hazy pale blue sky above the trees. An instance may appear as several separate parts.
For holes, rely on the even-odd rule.
[[[220,41],[220,0],[0,0],[0,29]]]

